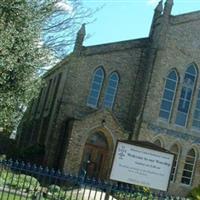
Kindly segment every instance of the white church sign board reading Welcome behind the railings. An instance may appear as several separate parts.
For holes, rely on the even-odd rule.
[[[167,191],[174,155],[118,142],[110,179]]]

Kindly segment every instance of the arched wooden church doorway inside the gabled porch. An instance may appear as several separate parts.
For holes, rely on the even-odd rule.
[[[108,142],[101,132],[92,134],[86,141],[81,172],[90,178],[106,178],[108,170]]]

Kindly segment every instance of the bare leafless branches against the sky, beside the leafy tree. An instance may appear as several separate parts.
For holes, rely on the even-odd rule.
[[[43,27],[45,46],[53,51],[58,59],[69,52],[83,19],[90,18],[94,12],[84,8],[80,1],[57,2],[56,11],[45,20]]]

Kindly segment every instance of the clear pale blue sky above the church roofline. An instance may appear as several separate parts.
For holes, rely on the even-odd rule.
[[[159,0],[83,0],[88,8],[102,7],[86,25],[84,45],[147,37]],[[165,0],[164,0],[165,2]],[[200,0],[174,0],[173,15],[200,10]]]

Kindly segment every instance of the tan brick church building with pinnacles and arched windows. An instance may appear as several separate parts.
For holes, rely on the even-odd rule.
[[[20,146],[44,146],[43,164],[109,175],[117,140],[148,141],[175,156],[169,192],[200,184],[200,11],[155,8],[149,36],[84,46],[43,77],[18,130]],[[89,167],[88,167],[88,164]]]

